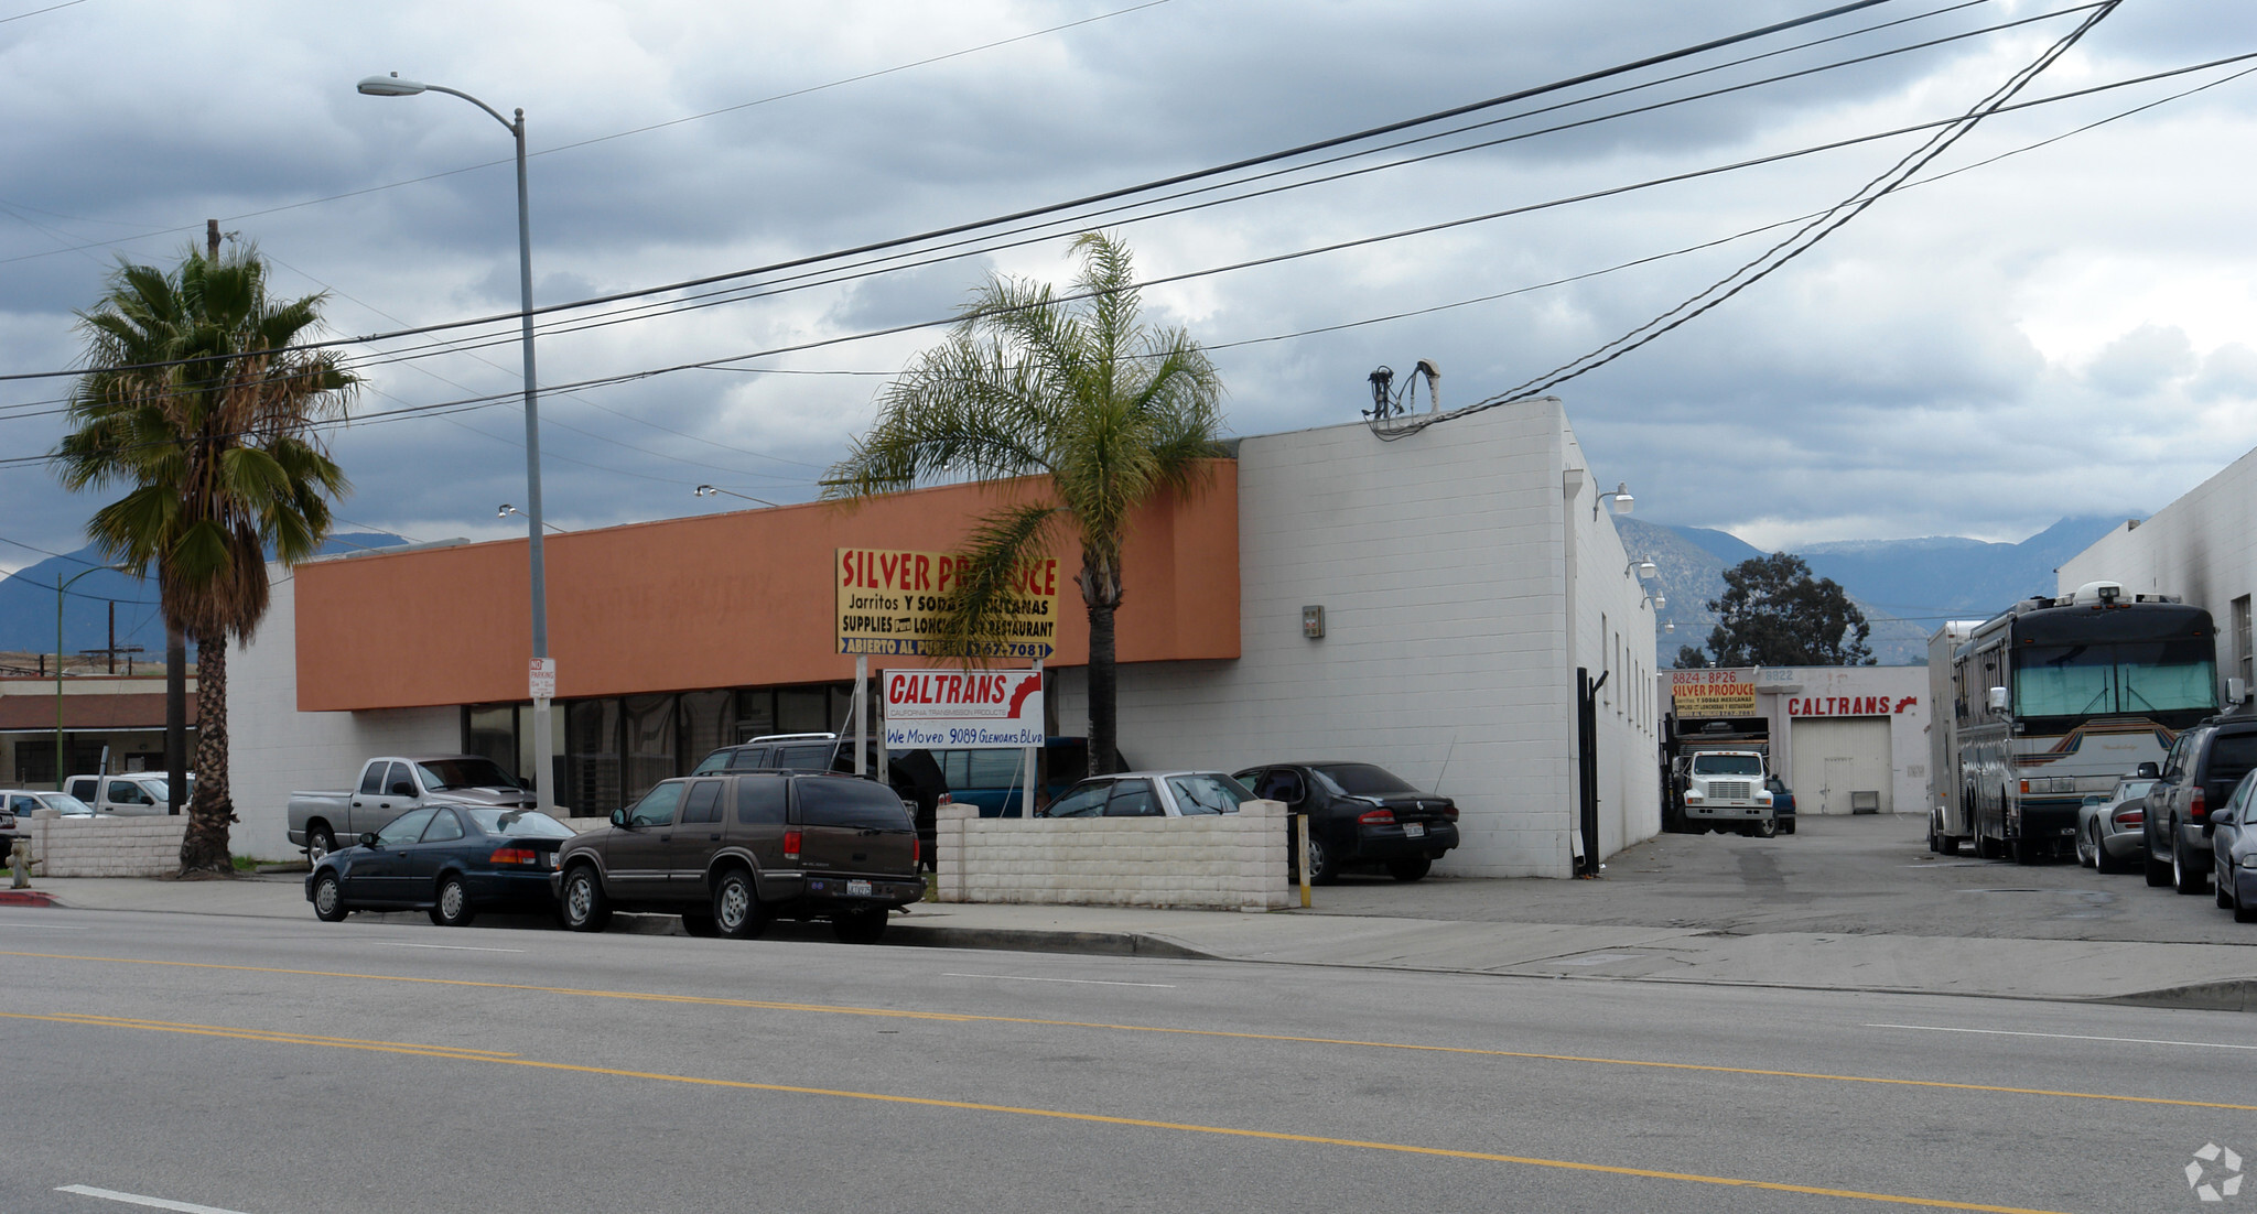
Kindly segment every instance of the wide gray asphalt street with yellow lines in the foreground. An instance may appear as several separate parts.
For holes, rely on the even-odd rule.
[[[11,1214],[2099,1212],[2216,1209],[2212,1142],[2257,1171],[2232,1013],[27,907],[0,966]]]

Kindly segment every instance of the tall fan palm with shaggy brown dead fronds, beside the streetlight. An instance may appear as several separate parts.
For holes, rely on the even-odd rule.
[[[316,424],[343,417],[357,377],[330,352],[289,350],[323,296],[271,300],[244,248],[190,250],[181,269],[120,264],[79,314],[88,375],[54,451],[70,490],[117,485],[86,530],[120,566],[158,578],[167,625],[196,643],[196,792],[181,871],[230,871],[228,641],[266,616],[266,553],[296,564],[330,535],[345,474]]]

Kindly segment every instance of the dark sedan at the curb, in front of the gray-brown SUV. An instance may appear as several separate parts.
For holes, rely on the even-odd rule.
[[[305,900],[325,923],[357,909],[429,909],[440,927],[481,909],[555,912],[548,873],[569,837],[571,826],[533,810],[427,806],[323,855]]]

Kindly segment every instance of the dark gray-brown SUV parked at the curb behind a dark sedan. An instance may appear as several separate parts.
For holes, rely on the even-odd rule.
[[[553,889],[564,925],[612,912],[679,914],[693,936],[758,936],[772,918],[828,918],[876,943],[925,894],[910,808],[853,776],[761,772],[664,781],[612,826],[567,839]]]

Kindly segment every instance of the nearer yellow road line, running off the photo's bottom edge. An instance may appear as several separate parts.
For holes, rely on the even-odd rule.
[[[1476,1160],[1476,1162],[1492,1162],[1492,1164],[1521,1164],[1521,1167],[1542,1167],[1542,1169],[1557,1169],[1557,1171],[1584,1171],[1584,1173],[1600,1173],[1600,1176],[1636,1176],[1636,1178],[1645,1178],[1645,1180],[1677,1180],[1677,1182],[1684,1182],[1684,1185],[1718,1185],[1718,1187],[1729,1187],[1729,1189],[1760,1189],[1760,1191],[1769,1191],[1769,1194],[1803,1194],[1803,1196],[1821,1196],[1821,1198],[1871,1200],[1871,1203],[1882,1203],[1882,1205],[1918,1205],[1918,1207],[1925,1207],[1925,1209],[1977,1209],[1977,1212],[1984,1212],[1984,1214],[2061,1214],[2061,1212],[2054,1212],[2054,1209],[2031,1209],[2031,1207],[2022,1207],[2022,1205],[1984,1205],[1984,1203],[1973,1203],[1973,1200],[1918,1198],[1918,1196],[1905,1196],[1905,1194],[1869,1194],[1869,1191],[1862,1191],[1862,1189],[1826,1189],[1826,1187],[1819,1187],[1819,1185],[1788,1185],[1783,1180],[1747,1180],[1747,1178],[1738,1178],[1738,1176],[1704,1176],[1704,1173],[1697,1173],[1697,1171],[1661,1171],[1661,1169],[1645,1169],[1645,1167],[1589,1164],[1589,1162],[1578,1162],[1578,1160],[1546,1160],[1546,1158],[1539,1158],[1539,1155],[1503,1155],[1503,1153],[1496,1153],[1496,1151],[1458,1151],[1458,1149],[1451,1149],[1451,1146],[1417,1146],[1417,1144],[1408,1144],[1408,1142],[1372,1142],[1372,1140],[1361,1140],[1361,1137],[1325,1137],[1325,1135],[1300,1135],[1300,1133],[1286,1133],[1286,1131],[1250,1131],[1250,1128],[1241,1128],[1241,1126],[1201,1126],[1196,1121],[1156,1121],[1156,1119],[1149,1119],[1149,1117],[1110,1117],[1110,1115],[1104,1115],[1104,1112],[1070,1112],[1070,1110],[1063,1110],[1063,1108],[1025,1108],[1025,1106],[1011,1106],[1011,1103],[948,1101],[948,1099],[937,1099],[937,1097],[901,1097],[901,1094],[892,1094],[892,1092],[853,1092],[853,1090],[844,1090],[844,1088],[803,1088],[803,1085],[797,1085],[797,1083],[754,1083],[754,1081],[747,1081],[747,1079],[709,1079],[709,1076],[695,1076],[695,1074],[666,1074],[666,1072],[641,1072],[641,1070],[621,1070],[621,1067],[589,1067],[589,1065],[580,1065],[580,1063],[544,1063],[544,1061],[537,1061],[537,1058],[515,1058],[515,1056],[492,1056],[492,1054],[449,1054],[449,1052],[445,1052],[445,1047],[393,1045],[393,1043],[372,1043],[372,1040],[359,1040],[359,1038],[300,1038],[300,1040],[289,1040],[289,1038],[282,1038],[278,1033],[269,1033],[269,1031],[262,1031],[262,1029],[228,1029],[228,1027],[219,1027],[219,1024],[169,1024],[169,1022],[163,1022],[163,1020],[122,1020],[122,1018],[86,1015],[86,1013],[34,1015],[34,1013],[20,1013],[20,1011],[0,1011],[0,1018],[7,1018],[7,1020],[45,1020],[45,1022],[54,1022],[54,1024],[81,1024],[81,1027],[106,1027],[106,1029],[142,1029],[142,1031],[158,1031],[158,1033],[221,1036],[221,1038],[239,1038],[239,1040],[255,1040],[255,1043],[325,1045],[325,1047],[332,1047],[332,1049],[368,1049],[368,1052],[381,1052],[381,1054],[442,1056],[442,1058],[463,1058],[463,1061],[476,1061],[476,1063],[497,1063],[497,1065],[506,1065],[506,1067],[530,1067],[530,1070],[551,1070],[551,1072],[569,1072],[569,1074],[603,1074],[603,1076],[612,1076],[612,1079],[648,1079],[648,1081],[655,1081],[655,1083],[688,1083],[688,1085],[695,1085],[695,1088],[734,1088],[734,1090],[745,1090],[745,1092],[785,1092],[785,1094],[797,1094],[797,1097],[831,1097],[831,1099],[846,1099],[846,1101],[903,1103],[903,1106],[921,1106],[921,1108],[955,1108],[955,1110],[966,1110],[966,1112],[1004,1112],[1004,1115],[1011,1115],[1011,1117],[1045,1117],[1045,1119],[1052,1119],[1052,1121],[1083,1121],[1083,1124],[1095,1124],[1095,1126],[1135,1126],[1135,1128],[1147,1128],[1147,1131],[1174,1131],[1174,1133],[1189,1133],[1189,1135],[1250,1137],[1250,1140],[1262,1140],[1262,1142],[1300,1142],[1300,1144],[1311,1144],[1311,1146],[1347,1146],[1347,1149],[1356,1149],[1356,1151],[1388,1151],[1388,1153],[1397,1153],[1397,1155],[1429,1155],[1429,1158],[1444,1158],[1444,1160]]]

